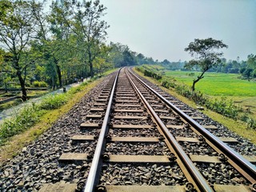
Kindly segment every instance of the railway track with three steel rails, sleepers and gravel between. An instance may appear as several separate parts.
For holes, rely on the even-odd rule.
[[[58,159],[81,165],[81,177],[39,191],[256,190],[254,156],[235,152],[236,139],[214,136],[216,126],[147,84],[129,69],[112,75],[70,137],[75,153]]]

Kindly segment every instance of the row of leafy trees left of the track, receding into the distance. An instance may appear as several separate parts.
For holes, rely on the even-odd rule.
[[[110,27],[99,0],[0,0],[0,84],[7,90],[46,82],[53,89],[106,69],[154,63],[120,43],[106,45]]]

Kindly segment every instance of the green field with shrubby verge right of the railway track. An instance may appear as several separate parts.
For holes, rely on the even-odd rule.
[[[247,128],[256,130],[256,101],[251,99],[256,98],[255,82],[238,79],[238,75],[234,80],[234,74],[208,73],[204,81],[198,82],[198,90],[193,91],[190,84],[197,73],[164,70],[162,66],[139,66],[136,69],[145,76],[156,79],[161,86],[189,98],[198,106],[204,106],[227,118],[246,122]],[[232,96],[235,96],[236,101]],[[245,98],[249,98],[250,105],[242,102]]]

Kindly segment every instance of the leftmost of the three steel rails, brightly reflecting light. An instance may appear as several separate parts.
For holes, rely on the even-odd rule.
[[[110,110],[111,110],[111,106],[114,98],[114,91],[117,85],[118,75],[120,73],[120,70],[121,69],[118,70],[118,74],[116,74],[116,77],[114,79],[114,84],[112,86],[112,90],[110,94],[110,100],[106,108],[106,114],[102,123],[101,132],[98,137],[97,146],[94,152],[94,158],[90,166],[90,171],[86,181],[86,187],[83,190],[84,192],[93,192],[98,182],[98,176],[100,174],[101,164],[102,164],[102,151],[104,150],[104,146],[106,145],[106,134],[108,132],[108,122],[110,120]]]

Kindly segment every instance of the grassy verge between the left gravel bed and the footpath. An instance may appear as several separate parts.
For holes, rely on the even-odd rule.
[[[45,98],[41,103],[26,106],[13,118],[3,122],[0,126],[0,165],[8,158],[14,157],[24,146],[49,129],[89,90],[98,85],[102,81],[101,77],[105,77],[112,72],[114,70],[108,70],[98,78],[94,77],[88,82],[81,83],[80,86],[75,86],[66,93],[55,94]]]

